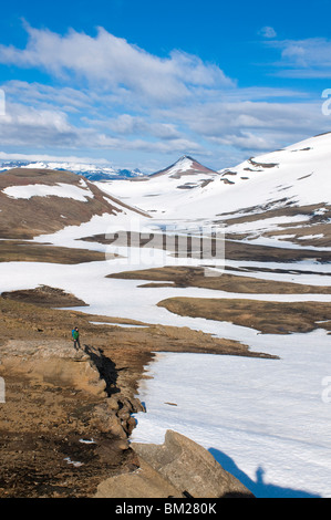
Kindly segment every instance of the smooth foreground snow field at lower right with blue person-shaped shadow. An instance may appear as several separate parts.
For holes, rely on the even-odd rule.
[[[174,429],[258,498],[330,497],[330,339],[301,336],[267,339],[280,360],[157,354],[153,379],[141,385],[147,413],[135,416],[132,440],[162,444]]]

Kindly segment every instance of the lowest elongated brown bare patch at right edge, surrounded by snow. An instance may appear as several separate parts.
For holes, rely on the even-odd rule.
[[[263,334],[331,331],[331,303],[169,298],[158,303],[175,314],[235,323]]]

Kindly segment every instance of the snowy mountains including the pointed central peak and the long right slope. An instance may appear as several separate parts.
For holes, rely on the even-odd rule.
[[[147,179],[101,188],[156,218],[224,223],[231,238],[328,247],[331,133],[219,171],[184,156]]]

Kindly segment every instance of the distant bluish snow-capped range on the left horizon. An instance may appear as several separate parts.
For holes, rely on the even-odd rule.
[[[0,171],[6,171],[12,168],[32,168],[32,169],[53,169],[72,171],[82,175],[89,180],[110,180],[110,179],[125,179],[132,177],[142,177],[144,174],[139,169],[115,169],[112,166],[100,166],[86,163],[69,163],[69,162],[23,162],[11,160],[0,163]]]

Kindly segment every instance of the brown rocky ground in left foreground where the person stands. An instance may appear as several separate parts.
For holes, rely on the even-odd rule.
[[[130,435],[135,427],[132,414],[144,413],[137,385],[153,352],[267,355],[186,327],[121,327],[116,324],[121,320],[55,310],[75,299],[54,288],[4,297],[0,298],[0,376],[6,383],[6,403],[0,403],[0,498],[114,496],[114,490],[105,491],[107,486],[100,488],[102,482],[126,475],[126,488],[135,489],[126,478],[137,470],[143,471],[142,492],[148,493],[155,469],[132,448]],[[73,325],[81,330],[80,352],[71,341]],[[167,497],[169,481],[165,485],[164,477],[158,478],[153,492]],[[176,489],[176,496],[183,496],[183,486]],[[234,489],[244,492],[238,482]]]

